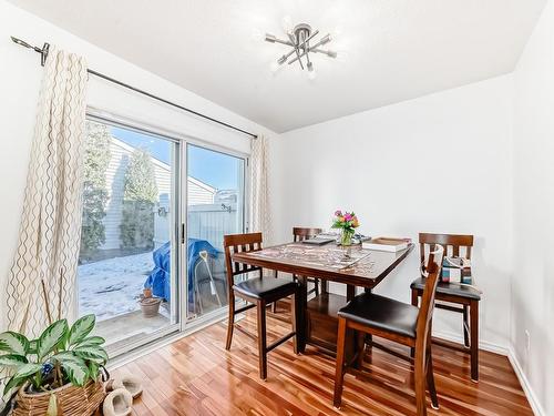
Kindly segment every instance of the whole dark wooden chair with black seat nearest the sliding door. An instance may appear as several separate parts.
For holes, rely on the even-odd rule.
[[[294,339],[295,353],[298,353],[297,348],[297,313],[298,301],[299,301],[299,285],[297,282],[293,282],[279,277],[264,277],[261,267],[249,266],[247,264],[240,264],[232,261],[232,255],[238,252],[255,252],[261,250],[261,233],[252,234],[235,234],[225,235],[223,240],[223,245],[225,248],[225,262],[227,272],[227,293],[229,302],[229,316],[227,326],[227,343],[225,349],[230,349],[230,343],[233,341],[233,328],[235,327],[235,315],[240,314],[249,308],[257,307],[258,314],[258,356],[259,356],[259,377],[261,379],[267,378],[267,353],[269,353],[275,347],[285,343],[291,337]],[[252,272],[259,272],[259,277],[250,277],[243,280],[242,282],[235,283],[235,276],[245,275]],[[238,296],[247,302],[246,306],[236,308],[235,296]],[[293,302],[290,302],[290,315],[293,322],[293,331],[281,338],[277,339],[275,343],[267,345],[266,337],[266,306],[274,303],[280,298],[293,296]],[[250,334],[248,334],[250,335]]]

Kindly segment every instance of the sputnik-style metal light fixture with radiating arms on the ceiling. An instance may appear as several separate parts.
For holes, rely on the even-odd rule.
[[[284,20],[288,20],[285,18]],[[285,24],[285,23],[284,23]],[[291,26],[291,24],[290,24]],[[308,78],[316,78],[314,62],[310,59],[310,53],[321,53],[329,58],[337,58],[337,52],[324,50],[321,47],[331,41],[331,35],[328,33],[316,41],[319,30],[312,30],[307,23],[299,23],[291,30],[286,30],[288,39],[279,39],[275,34],[266,33],[266,41],[270,43],[281,43],[293,48],[288,53],[280,57],[271,64],[271,70],[277,71],[285,62],[289,65],[298,62],[300,69],[308,70]]]

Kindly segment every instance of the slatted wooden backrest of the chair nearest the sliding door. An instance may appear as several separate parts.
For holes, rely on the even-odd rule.
[[[261,250],[261,233],[229,234],[223,236],[223,247],[225,250],[225,265],[227,274],[227,288],[229,294],[235,284],[235,276],[255,271],[261,267],[233,262],[230,256],[235,253],[257,252]]]

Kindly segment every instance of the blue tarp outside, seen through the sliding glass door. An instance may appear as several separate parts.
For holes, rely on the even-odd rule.
[[[199,252],[205,250],[212,257],[217,257],[219,252],[206,240],[188,239],[188,303],[194,304],[194,266],[199,258]],[[171,298],[171,243],[167,242],[152,253],[154,270],[150,274],[144,287],[152,287],[154,296]]]

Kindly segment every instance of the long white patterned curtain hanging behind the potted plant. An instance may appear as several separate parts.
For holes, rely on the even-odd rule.
[[[81,237],[86,63],[50,48],[39,97],[19,241],[8,275],[10,329],[37,336],[74,313]]]

